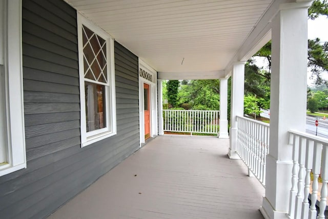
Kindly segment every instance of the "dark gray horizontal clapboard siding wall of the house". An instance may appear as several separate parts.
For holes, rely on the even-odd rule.
[[[27,169],[0,177],[1,218],[43,218],[139,148],[138,58],[115,43],[117,135],[80,147],[76,11],[23,0]]]

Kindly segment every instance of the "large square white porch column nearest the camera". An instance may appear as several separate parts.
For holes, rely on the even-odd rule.
[[[288,131],[305,132],[310,5],[282,4],[272,21],[270,150],[260,207],[265,218],[287,218],[293,165]]]

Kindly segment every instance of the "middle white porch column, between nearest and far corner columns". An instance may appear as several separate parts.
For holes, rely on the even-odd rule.
[[[237,121],[236,116],[244,114],[244,77],[245,63],[238,62],[233,66],[231,74],[231,114],[230,114],[230,159],[239,159],[237,149]]]

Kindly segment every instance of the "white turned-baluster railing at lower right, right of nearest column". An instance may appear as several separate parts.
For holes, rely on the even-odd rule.
[[[293,144],[293,171],[288,215],[290,218],[325,218],[328,140],[298,131],[290,131],[290,139]],[[313,174],[312,187],[311,172]],[[322,180],[320,197],[318,194],[319,177]]]

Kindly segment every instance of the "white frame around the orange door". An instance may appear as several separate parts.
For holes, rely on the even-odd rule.
[[[140,71],[144,70],[152,76],[151,81],[140,76]],[[158,134],[157,121],[157,72],[139,58],[139,133],[140,147],[145,143],[145,114],[144,114],[144,83],[149,85],[150,90],[150,137]]]

